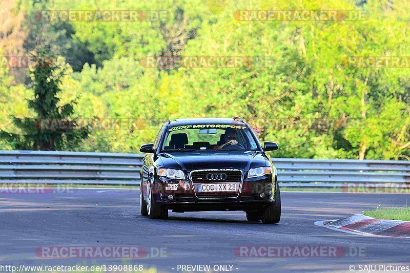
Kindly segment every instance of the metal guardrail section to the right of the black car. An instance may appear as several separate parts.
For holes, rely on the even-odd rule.
[[[410,161],[272,158],[282,186],[410,183]],[[377,186],[377,185],[375,185]]]

